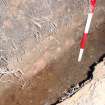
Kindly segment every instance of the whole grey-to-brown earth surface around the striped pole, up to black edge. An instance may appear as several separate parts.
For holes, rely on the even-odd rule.
[[[3,1],[0,2],[0,40],[4,41],[0,46],[0,105],[51,105],[65,89],[84,80],[89,66],[105,53],[105,11],[104,6],[101,8],[104,0],[99,1],[93,19],[94,29],[90,31],[81,63],[77,59],[86,20],[83,17],[87,15],[83,14],[81,0],[77,0],[81,7],[72,0],[67,0],[67,3],[65,0],[49,0],[50,8],[42,0]],[[38,6],[40,3],[44,6]],[[70,11],[72,9],[73,13]],[[35,21],[33,17],[37,16]],[[45,40],[38,45],[40,37],[45,37]],[[9,49],[9,52],[1,53],[2,47]],[[2,56],[9,63],[1,59]],[[5,71],[4,67],[8,69]]]

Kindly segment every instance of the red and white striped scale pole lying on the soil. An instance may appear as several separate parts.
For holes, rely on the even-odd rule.
[[[82,37],[82,40],[81,40],[78,62],[81,62],[81,60],[82,60],[82,55],[83,55],[85,44],[86,44],[86,41],[87,41],[88,32],[89,32],[91,20],[92,20],[93,14],[94,14],[95,6],[96,6],[96,0],[90,0],[91,12],[88,13],[88,18],[87,18],[87,22],[86,22],[86,26],[85,26],[85,31],[84,31],[84,34],[83,34],[83,37]]]

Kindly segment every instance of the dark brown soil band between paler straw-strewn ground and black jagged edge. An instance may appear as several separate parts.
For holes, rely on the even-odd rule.
[[[78,79],[86,78],[85,73],[89,70],[89,66],[105,53],[105,25],[100,25],[100,27],[102,29],[98,28],[89,34],[81,63],[77,62],[79,52],[77,42],[72,49],[64,52],[62,57],[52,61],[41,73],[28,80],[24,88],[13,86],[7,89],[0,97],[0,105],[50,105],[54,103],[64,90],[70,87],[70,84],[76,84]],[[81,75],[81,71],[84,76]]]

